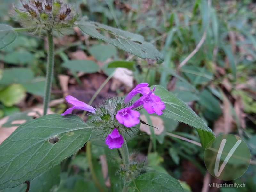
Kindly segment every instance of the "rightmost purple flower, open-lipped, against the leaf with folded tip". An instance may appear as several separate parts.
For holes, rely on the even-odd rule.
[[[157,115],[162,115],[162,110],[165,109],[164,102],[161,101],[160,97],[154,95],[155,87],[152,91],[150,91],[147,95],[143,95],[133,103],[132,109],[139,107],[140,105],[143,105],[143,107],[146,109],[146,111],[151,113],[156,113]]]

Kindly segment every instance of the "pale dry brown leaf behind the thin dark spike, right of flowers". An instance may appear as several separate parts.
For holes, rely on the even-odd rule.
[[[164,122],[163,120],[158,116],[149,116],[152,122],[152,126],[158,128],[154,128],[155,135],[160,135],[164,131]],[[148,124],[147,118],[145,115],[140,116],[141,120],[146,122]],[[146,132],[148,135],[151,135],[150,128],[148,125],[140,124],[140,131]]]

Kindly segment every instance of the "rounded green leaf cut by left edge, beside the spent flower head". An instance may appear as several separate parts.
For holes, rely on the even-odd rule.
[[[17,32],[9,25],[0,24],[0,49],[11,44],[17,38]]]

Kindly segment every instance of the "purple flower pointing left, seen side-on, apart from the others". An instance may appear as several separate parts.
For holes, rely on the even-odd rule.
[[[71,108],[67,109],[64,113],[62,113],[61,115],[66,115],[68,113],[71,113],[73,109],[81,109],[81,110],[85,110],[85,111],[89,111],[91,113],[95,113],[95,108],[87,105],[86,103],[79,101],[78,99],[76,99],[75,97],[72,97],[71,95],[67,95],[66,98],[68,103],[74,105]]]

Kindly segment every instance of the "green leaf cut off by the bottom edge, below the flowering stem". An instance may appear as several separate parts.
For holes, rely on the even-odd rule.
[[[128,186],[135,187],[139,192],[185,192],[178,180],[159,172],[141,174]]]

